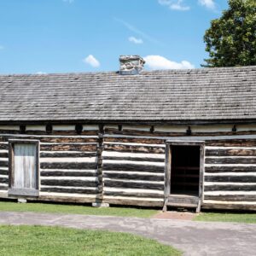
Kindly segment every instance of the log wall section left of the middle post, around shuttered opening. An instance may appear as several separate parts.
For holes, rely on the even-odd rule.
[[[90,131],[91,132],[91,131]],[[90,133],[89,132],[89,133]],[[9,139],[40,141],[39,200],[96,201],[97,142],[94,135],[0,135],[0,191],[8,190]],[[81,197],[82,196],[82,197]]]

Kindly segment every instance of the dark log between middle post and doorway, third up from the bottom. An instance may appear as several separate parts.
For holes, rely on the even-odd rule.
[[[161,183],[140,183],[121,180],[104,180],[104,185],[110,188],[126,189],[158,189],[164,190],[164,184]]]

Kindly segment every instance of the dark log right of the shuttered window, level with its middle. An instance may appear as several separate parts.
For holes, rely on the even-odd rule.
[[[41,169],[96,169],[95,162],[43,162],[40,163]]]

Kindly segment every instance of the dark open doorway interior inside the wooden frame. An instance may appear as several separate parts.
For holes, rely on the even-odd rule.
[[[199,195],[200,146],[171,146],[171,195]]]

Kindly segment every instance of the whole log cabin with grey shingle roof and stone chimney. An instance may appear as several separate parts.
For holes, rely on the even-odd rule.
[[[0,76],[0,198],[256,210],[256,67]]]

